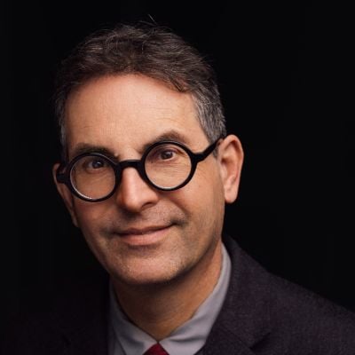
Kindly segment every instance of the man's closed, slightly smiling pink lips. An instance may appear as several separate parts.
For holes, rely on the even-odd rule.
[[[154,225],[145,228],[129,228],[118,235],[122,241],[130,246],[147,246],[161,242],[167,233],[169,233],[171,225]]]

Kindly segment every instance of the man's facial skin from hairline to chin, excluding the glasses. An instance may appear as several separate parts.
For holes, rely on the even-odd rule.
[[[144,147],[173,138],[193,152],[209,141],[190,95],[142,75],[107,76],[71,94],[66,111],[69,160],[83,148],[105,149],[117,161],[140,159]],[[173,280],[216,253],[224,217],[224,184],[210,154],[183,188],[164,192],[127,168],[106,201],[88,202],[59,186],[75,225],[116,280]]]

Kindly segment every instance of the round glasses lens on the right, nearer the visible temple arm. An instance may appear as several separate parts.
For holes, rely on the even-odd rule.
[[[173,188],[185,182],[191,160],[183,148],[174,144],[155,146],[146,156],[146,176],[156,186]]]

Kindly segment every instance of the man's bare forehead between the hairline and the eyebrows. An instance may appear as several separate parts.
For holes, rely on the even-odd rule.
[[[78,145],[105,146],[114,154],[138,151],[167,131],[192,145],[207,138],[193,98],[143,75],[100,77],[84,84],[67,101],[68,151]]]

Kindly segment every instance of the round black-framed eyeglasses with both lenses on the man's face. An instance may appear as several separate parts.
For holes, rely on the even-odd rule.
[[[179,142],[161,141],[149,146],[140,160],[122,162],[100,153],[80,154],[71,162],[60,164],[56,178],[75,196],[91,202],[111,197],[126,168],[138,170],[147,184],[159,190],[177,190],[193,178],[197,164],[215,150],[219,139],[201,153],[193,153]]]

